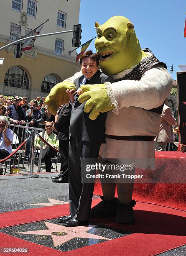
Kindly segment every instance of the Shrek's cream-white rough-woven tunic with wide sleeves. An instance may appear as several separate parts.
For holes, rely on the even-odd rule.
[[[130,71],[131,69],[112,77],[119,79]],[[76,73],[74,77],[76,76],[80,74]],[[74,77],[70,80],[74,81]],[[122,80],[110,84],[107,92],[116,108],[114,112],[107,113],[106,134],[158,136],[161,116],[148,109],[161,106],[171,88],[171,75],[161,65],[146,71],[140,81]],[[142,159],[140,162],[136,161],[136,167],[154,169],[153,141],[122,141],[107,138],[106,144],[102,144],[100,154],[103,158]]]

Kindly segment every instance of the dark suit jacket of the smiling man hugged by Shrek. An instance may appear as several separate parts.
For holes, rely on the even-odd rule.
[[[79,81],[84,76],[81,76],[74,80],[76,89],[79,88]],[[103,84],[104,82],[114,82],[112,77],[97,71],[94,76],[89,80],[88,84]],[[89,118],[89,113],[85,113],[85,102],[80,104],[77,99],[78,95],[75,95],[74,103],[71,110],[70,119],[70,136],[80,141],[90,142],[105,142],[105,121],[107,113],[100,113],[96,120]]]

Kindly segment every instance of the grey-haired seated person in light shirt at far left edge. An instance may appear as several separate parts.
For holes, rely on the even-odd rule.
[[[8,119],[0,115],[0,159],[4,159],[12,153],[13,131],[8,129]],[[0,175],[3,174],[3,168],[0,168]]]

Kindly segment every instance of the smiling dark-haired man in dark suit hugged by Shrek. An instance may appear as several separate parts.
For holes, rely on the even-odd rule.
[[[83,75],[74,80],[76,89],[82,84],[103,84],[114,81],[112,77],[99,71],[98,54],[93,54],[92,51],[84,52],[80,64]],[[94,190],[94,183],[82,183],[81,161],[86,158],[98,158],[99,148],[105,142],[107,113],[101,113],[96,120],[91,120],[89,113],[84,112],[85,103],[79,103],[76,90],[67,89],[67,93],[72,105],[69,129],[70,215],[58,220],[66,226],[79,226],[88,224]]]

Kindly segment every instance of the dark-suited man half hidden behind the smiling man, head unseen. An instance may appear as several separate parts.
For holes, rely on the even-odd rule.
[[[54,131],[58,131],[59,151],[61,160],[60,174],[52,177],[52,182],[68,182],[68,152],[69,152],[69,125],[71,105],[63,105],[58,112],[57,121],[54,123]]]

